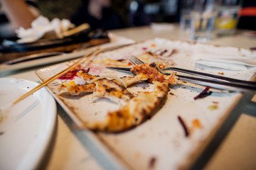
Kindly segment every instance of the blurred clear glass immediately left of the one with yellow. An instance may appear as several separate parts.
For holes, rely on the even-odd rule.
[[[218,0],[195,0],[191,11],[190,39],[207,42],[213,38]]]

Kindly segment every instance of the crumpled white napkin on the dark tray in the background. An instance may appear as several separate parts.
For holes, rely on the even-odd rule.
[[[31,28],[18,28],[16,34],[20,38],[17,42],[35,42],[43,37],[43,35],[55,36],[56,38],[63,38],[63,33],[75,25],[68,19],[54,18],[49,21],[44,16],[38,16],[32,23]]]

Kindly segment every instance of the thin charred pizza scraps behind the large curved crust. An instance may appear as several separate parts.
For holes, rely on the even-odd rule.
[[[59,94],[70,94],[78,96],[80,94],[93,93],[94,97],[104,97],[117,103],[125,103],[134,97],[123,84],[117,80],[110,80],[98,76],[88,74],[84,70],[80,70],[77,73],[78,76],[85,80],[85,84],[61,84],[59,87]],[[149,77],[145,74],[140,74],[135,77],[122,77],[122,81],[126,86],[130,86],[138,81],[146,81]]]

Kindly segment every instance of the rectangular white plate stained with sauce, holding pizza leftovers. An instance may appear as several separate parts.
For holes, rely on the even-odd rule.
[[[81,68],[90,68],[90,74],[112,74],[117,77],[127,76],[128,74],[115,72],[105,67],[131,67],[127,60],[124,60],[125,56],[137,55],[141,60],[148,63],[162,62],[169,67],[174,66],[211,74],[223,74],[225,77],[236,79],[250,80],[256,72],[255,67],[242,72],[212,67],[196,68],[193,62],[193,52],[198,47],[202,47],[207,52],[213,54],[216,51],[223,51],[241,57],[255,57],[255,52],[235,47],[219,47],[156,38],[122,47],[118,50],[104,52],[98,55],[92,63],[89,65],[84,64]],[[166,52],[161,54],[165,50]],[[156,57],[143,55],[146,51],[156,52],[159,55],[156,55]],[[46,80],[48,77],[53,76],[53,74],[57,74],[62,69],[68,67],[71,63],[73,61],[39,69],[36,74],[41,80]],[[77,81],[77,77],[74,80]],[[58,86],[61,81],[63,80],[58,79],[54,81],[53,84],[48,86],[48,89],[50,89],[56,100],[78,125],[102,120],[102,118],[105,118],[107,111],[113,111],[118,108],[117,104],[106,99],[92,98],[92,94],[70,97],[59,96]],[[164,106],[151,119],[142,123],[142,125],[118,134],[96,133],[96,135],[129,169],[188,168],[201,154],[216,130],[218,130],[221,123],[223,123],[242,96],[238,93],[211,89],[213,94],[195,101],[193,98],[203,91],[204,88],[203,86],[185,82],[173,85]],[[134,94],[137,91],[145,91],[147,89],[146,83],[128,88]],[[214,107],[215,109],[210,109]],[[188,127],[190,132],[188,137],[184,135],[184,130],[178,121],[178,116],[183,119]],[[193,125],[193,122],[196,120],[201,124],[201,128]]]

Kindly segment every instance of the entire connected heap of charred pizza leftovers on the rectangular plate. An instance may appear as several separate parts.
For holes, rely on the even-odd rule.
[[[81,70],[77,75],[87,81],[87,84],[60,86],[61,93],[78,95],[90,91],[94,97],[109,98],[120,104],[119,109],[108,112],[102,122],[86,123],[82,128],[102,132],[129,130],[154,115],[154,111],[161,107],[167,96],[169,84],[177,83],[175,72],[168,76],[161,74],[154,63],[135,65],[131,72],[135,74],[134,77],[106,79],[106,76],[97,77]],[[140,92],[134,96],[127,90],[127,86],[138,81],[154,84],[154,91]]]

